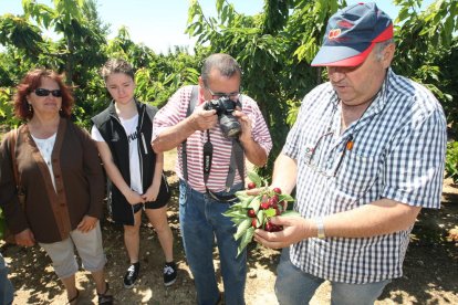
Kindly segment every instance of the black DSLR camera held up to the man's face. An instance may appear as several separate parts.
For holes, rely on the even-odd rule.
[[[219,126],[225,137],[237,138],[241,133],[241,126],[239,120],[232,115],[236,107],[241,108],[241,103],[230,99],[229,97],[222,96],[218,99],[211,99],[205,103],[204,109],[217,112],[219,118]]]

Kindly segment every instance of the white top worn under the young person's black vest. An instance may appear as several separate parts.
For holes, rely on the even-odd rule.
[[[128,159],[129,159],[129,170],[131,170],[131,189],[143,193],[142,185],[142,175],[139,168],[138,159],[138,146],[137,146],[137,125],[138,125],[138,114],[132,118],[124,119],[119,117],[121,125],[123,125],[124,130],[126,132],[128,138]],[[105,141],[98,132],[96,126],[92,127],[91,136],[96,141]]]

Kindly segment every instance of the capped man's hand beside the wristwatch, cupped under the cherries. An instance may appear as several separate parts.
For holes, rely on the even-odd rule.
[[[302,217],[274,217],[270,220],[273,224],[282,225],[283,231],[267,232],[261,229],[254,231],[254,240],[267,248],[280,249],[298,243],[313,236],[313,228]]]

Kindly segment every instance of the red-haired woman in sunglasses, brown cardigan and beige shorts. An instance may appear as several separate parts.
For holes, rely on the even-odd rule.
[[[24,123],[0,147],[0,202],[15,242],[39,243],[51,257],[67,304],[76,304],[80,295],[74,248],[93,275],[98,304],[112,304],[98,222],[103,171],[91,136],[69,119],[72,106],[61,75],[27,73],[14,96],[15,115]],[[25,196],[23,202],[18,193]]]

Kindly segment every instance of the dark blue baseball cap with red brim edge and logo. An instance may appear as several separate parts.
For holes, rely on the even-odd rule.
[[[330,18],[312,66],[360,65],[375,43],[392,38],[393,20],[374,2],[348,6]]]

